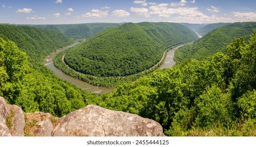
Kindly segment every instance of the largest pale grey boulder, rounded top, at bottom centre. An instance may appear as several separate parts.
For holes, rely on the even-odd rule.
[[[54,136],[165,136],[161,125],[136,114],[112,111],[94,105],[67,114]]]

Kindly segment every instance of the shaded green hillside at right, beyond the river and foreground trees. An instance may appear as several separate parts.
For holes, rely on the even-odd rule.
[[[186,59],[206,59],[221,51],[226,53],[227,44],[231,43],[234,37],[245,36],[249,39],[252,30],[256,28],[256,22],[234,23],[219,27],[191,45],[183,46],[175,51],[175,60],[179,64]]]

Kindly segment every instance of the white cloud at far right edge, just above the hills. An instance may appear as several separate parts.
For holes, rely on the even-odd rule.
[[[256,12],[234,12],[234,17],[238,17],[239,22],[255,22],[256,21]]]

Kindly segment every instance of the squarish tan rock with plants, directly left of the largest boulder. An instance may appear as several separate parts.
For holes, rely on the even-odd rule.
[[[26,135],[33,137],[52,136],[53,123],[49,113],[35,112],[26,113]]]

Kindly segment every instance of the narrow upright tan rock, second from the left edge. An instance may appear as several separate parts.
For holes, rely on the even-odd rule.
[[[14,113],[14,117],[12,119],[13,126],[11,128],[11,133],[13,137],[24,137],[24,127],[26,125],[24,112],[22,109],[16,105],[9,105],[11,108],[11,112]]]

